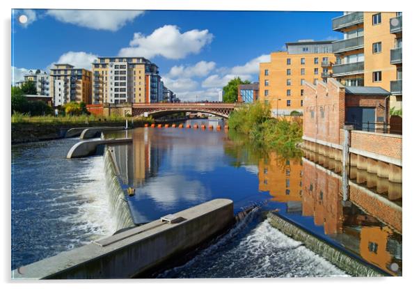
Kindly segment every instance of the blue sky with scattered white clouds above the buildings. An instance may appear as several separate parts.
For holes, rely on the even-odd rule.
[[[18,21],[26,15],[27,22]],[[258,81],[259,63],[300,39],[337,40],[339,12],[13,10],[12,81],[53,63],[92,70],[97,56],[143,56],[182,101],[218,100],[234,77]]]

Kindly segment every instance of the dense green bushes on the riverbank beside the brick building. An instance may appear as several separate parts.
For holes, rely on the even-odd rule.
[[[253,144],[276,150],[283,155],[292,154],[303,136],[301,118],[271,118],[270,107],[261,102],[233,111],[228,125],[231,130],[248,136]]]

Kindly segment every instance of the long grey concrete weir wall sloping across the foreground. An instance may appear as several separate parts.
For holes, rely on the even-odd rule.
[[[122,279],[152,270],[224,231],[233,203],[214,199],[12,272],[13,279]]]

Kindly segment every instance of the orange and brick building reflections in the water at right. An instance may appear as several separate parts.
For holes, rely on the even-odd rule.
[[[321,226],[334,242],[389,274],[401,275],[400,184],[351,168],[352,196],[343,202],[342,168],[334,159],[313,153],[285,159],[270,153],[258,167],[260,191],[269,192],[272,201],[286,203],[287,214],[312,217],[313,225]],[[393,205],[386,207],[388,201]]]

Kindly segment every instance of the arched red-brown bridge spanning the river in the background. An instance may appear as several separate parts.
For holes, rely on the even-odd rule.
[[[200,112],[204,114],[214,114],[221,118],[228,118],[230,113],[238,107],[239,104],[234,103],[134,103],[132,104],[132,115],[133,116],[154,116],[158,118],[160,116],[166,116],[168,114],[176,114],[178,112]]]

